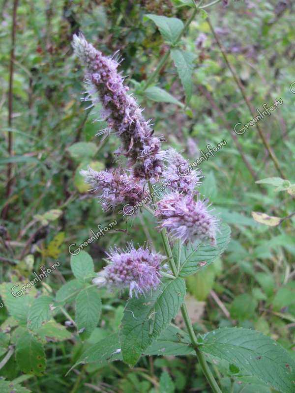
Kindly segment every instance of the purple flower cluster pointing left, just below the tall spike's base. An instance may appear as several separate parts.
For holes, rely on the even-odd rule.
[[[86,183],[92,187],[94,193],[100,193],[99,201],[104,211],[114,209],[123,203],[130,208],[142,201],[148,194],[144,181],[138,181],[133,176],[119,169],[102,170],[97,172],[91,168],[81,170]]]

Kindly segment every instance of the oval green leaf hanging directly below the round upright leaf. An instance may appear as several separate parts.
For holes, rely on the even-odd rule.
[[[96,328],[101,314],[101,300],[97,288],[83,289],[76,298],[76,324],[82,339],[89,338]]]

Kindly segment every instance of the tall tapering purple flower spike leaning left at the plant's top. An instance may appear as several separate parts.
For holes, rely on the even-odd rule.
[[[107,120],[106,131],[115,130],[122,140],[118,153],[129,159],[129,165],[136,163],[134,175],[139,178],[157,179],[161,173],[161,140],[153,137],[153,130],[142,115],[142,109],[127,94],[128,87],[117,71],[118,62],[103,56],[84,36],[73,36],[74,52],[86,65],[88,99],[96,104],[97,97],[102,104],[102,114]]]

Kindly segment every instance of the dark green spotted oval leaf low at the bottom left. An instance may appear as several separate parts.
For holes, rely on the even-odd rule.
[[[43,345],[29,332],[25,332],[16,343],[16,362],[26,374],[41,376],[46,368]]]

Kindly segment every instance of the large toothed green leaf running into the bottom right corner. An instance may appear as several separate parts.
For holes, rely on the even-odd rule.
[[[295,362],[270,337],[250,329],[223,328],[203,339],[202,352],[236,365],[282,393],[294,392]]]

